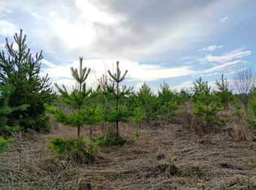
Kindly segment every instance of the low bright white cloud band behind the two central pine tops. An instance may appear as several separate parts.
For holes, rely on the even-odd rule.
[[[44,67],[42,68],[41,75],[44,76],[46,73],[49,73],[51,81],[57,83],[63,81],[64,79],[72,80],[70,66],[74,66],[74,68],[79,67],[79,61],[74,61],[74,63],[67,65],[54,65],[48,60],[44,60],[42,63],[44,64]],[[114,60],[84,60],[83,65],[92,69],[87,80],[87,84],[89,85],[94,85],[96,79],[105,74],[106,70],[110,69],[112,72],[116,71]],[[181,77],[196,73],[195,71],[191,70],[191,66],[164,68],[159,65],[145,65],[139,64],[138,61],[129,60],[120,61],[119,65],[122,73],[124,73],[125,70],[128,70],[125,79],[127,82],[155,81],[159,79]]]

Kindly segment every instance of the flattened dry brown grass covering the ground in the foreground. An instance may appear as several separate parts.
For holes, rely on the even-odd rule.
[[[103,158],[93,165],[53,159],[49,139],[75,137],[76,129],[51,126],[50,134],[17,135],[0,155],[0,189],[256,189],[256,143],[246,127],[246,141],[240,141],[236,120],[204,136],[182,125],[144,126],[138,143],[135,127],[123,124],[128,143],[101,147]],[[96,127],[93,136],[104,133]]]

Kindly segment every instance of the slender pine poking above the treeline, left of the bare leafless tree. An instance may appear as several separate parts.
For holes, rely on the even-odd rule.
[[[234,100],[231,89],[229,89],[229,82],[227,79],[223,78],[223,74],[221,75],[220,80],[216,80],[215,84],[218,87],[219,91],[215,91],[215,94],[221,99],[221,104],[224,109],[228,108],[228,105],[231,101]]]

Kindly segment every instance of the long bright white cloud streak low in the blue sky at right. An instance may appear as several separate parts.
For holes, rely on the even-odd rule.
[[[248,56],[252,53],[252,51],[240,51],[238,53],[227,53],[223,54],[222,56],[212,56],[212,54],[208,54],[205,57],[206,61],[216,61],[219,63],[225,63],[226,61],[233,60],[235,58],[243,58],[243,56]]]

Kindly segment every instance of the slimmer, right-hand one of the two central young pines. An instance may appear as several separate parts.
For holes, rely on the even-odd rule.
[[[108,122],[115,122],[117,132],[116,136],[119,135],[119,129],[118,124],[119,122],[129,122],[130,119],[130,113],[127,111],[126,108],[123,106],[119,108],[119,100],[122,98],[125,98],[126,96],[129,96],[132,93],[132,87],[127,87],[125,85],[122,86],[122,89],[120,89],[120,82],[122,82],[125,79],[125,75],[127,74],[128,70],[125,70],[125,73],[121,75],[121,71],[119,68],[119,61],[117,61],[117,72],[112,73],[110,70],[108,70],[108,74],[110,75],[110,80],[113,82],[112,85],[104,85],[104,91],[103,93],[105,96],[108,96],[108,98],[113,98],[116,101],[116,107],[115,110],[105,110],[105,120]]]

